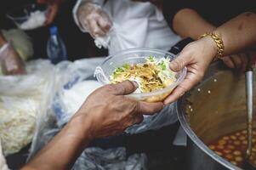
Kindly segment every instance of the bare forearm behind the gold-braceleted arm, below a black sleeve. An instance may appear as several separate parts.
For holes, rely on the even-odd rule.
[[[183,8],[174,15],[173,29],[181,37],[197,39],[205,32],[212,32],[215,26],[196,13],[191,8]]]

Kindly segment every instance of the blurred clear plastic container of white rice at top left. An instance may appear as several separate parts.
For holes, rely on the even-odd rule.
[[[21,30],[32,30],[43,26],[46,20],[47,6],[31,3],[18,8],[13,8],[7,17]]]

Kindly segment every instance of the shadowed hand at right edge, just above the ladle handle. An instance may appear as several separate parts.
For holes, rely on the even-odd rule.
[[[231,69],[241,69],[242,72],[246,71],[248,65],[254,65],[256,61],[256,52],[249,51],[243,54],[234,54],[231,56],[222,57],[221,60]]]

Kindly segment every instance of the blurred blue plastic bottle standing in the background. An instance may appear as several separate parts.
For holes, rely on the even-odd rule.
[[[47,42],[48,59],[55,65],[62,60],[67,59],[65,44],[58,34],[58,28],[52,26],[49,29],[50,37]]]

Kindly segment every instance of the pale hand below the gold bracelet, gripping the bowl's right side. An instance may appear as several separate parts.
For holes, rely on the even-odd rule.
[[[216,54],[216,44],[211,37],[204,37],[186,45],[179,56],[170,63],[170,68],[173,71],[181,71],[186,66],[187,75],[185,80],[164,100],[164,104],[174,102],[195,86],[204,76]]]

